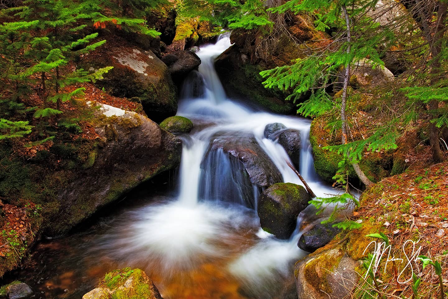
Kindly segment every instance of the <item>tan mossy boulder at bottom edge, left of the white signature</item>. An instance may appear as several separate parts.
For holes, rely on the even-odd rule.
[[[298,298],[344,298],[358,280],[357,266],[341,247],[307,256],[294,265]]]

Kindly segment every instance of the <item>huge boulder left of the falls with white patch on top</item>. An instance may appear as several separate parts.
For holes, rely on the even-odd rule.
[[[68,176],[52,204],[55,215],[47,234],[63,233],[99,208],[164,170],[177,167],[181,140],[138,113],[105,104],[95,112],[100,146],[86,153],[81,170],[56,172]],[[87,163],[87,162],[86,162]]]

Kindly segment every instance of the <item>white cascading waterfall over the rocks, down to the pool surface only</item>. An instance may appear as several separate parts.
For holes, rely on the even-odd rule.
[[[238,165],[226,160],[223,152],[212,154],[206,152],[207,144],[210,144],[217,136],[223,135],[234,135],[235,140],[238,136],[253,136],[274,162],[284,182],[303,185],[287,165],[287,162],[292,162],[284,148],[278,141],[264,137],[265,126],[274,122],[300,131],[302,148],[299,171],[314,193],[317,196],[334,193],[330,187],[319,180],[314,171],[309,141],[310,120],[256,111],[254,108],[246,107],[226,97],[215,71],[214,61],[230,45],[229,37],[221,35],[217,43],[201,47],[197,52],[202,61],[199,70],[186,78],[182,88],[182,98],[179,101],[177,114],[189,117],[195,124],[206,128],[198,130],[191,135],[188,142],[183,143],[179,201],[192,204],[201,198],[218,200],[227,197],[229,201],[246,203],[246,206],[252,208],[257,205],[255,197],[258,192],[254,192],[256,189],[254,186],[247,186],[247,180],[238,177],[235,170]],[[201,90],[201,87],[198,87],[201,83],[204,92],[198,93],[196,91]],[[246,186],[241,186],[242,182],[246,182]],[[231,189],[232,192],[226,192],[226,189]],[[248,194],[254,197],[249,202]]]

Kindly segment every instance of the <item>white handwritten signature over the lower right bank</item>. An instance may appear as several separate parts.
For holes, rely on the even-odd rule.
[[[404,268],[398,273],[396,281],[400,284],[410,282],[412,280],[414,270],[417,270],[417,272],[419,272],[418,263],[422,260],[422,258],[419,257],[420,251],[422,251],[422,246],[417,247],[417,243],[418,241],[414,242],[412,240],[407,240],[405,241],[405,243],[403,243],[402,252],[405,256],[405,259],[402,259],[402,258],[396,258],[395,255],[393,255],[393,253],[391,256],[392,245],[387,244],[386,242],[379,242],[379,241],[370,242],[367,245],[366,249],[364,249],[364,252],[362,253],[364,255],[367,249],[369,249],[369,247],[372,247],[373,245],[373,252],[372,252],[373,258],[370,261],[370,265],[369,268],[367,269],[366,276],[364,277],[364,279],[367,278],[370,269],[372,269],[373,273],[376,273],[378,271],[381,259],[383,258],[384,254],[387,253],[387,260],[386,264],[384,265],[384,273],[386,273],[386,268],[389,262],[399,261],[400,265],[405,263]],[[410,269],[411,275],[409,279],[405,280],[406,277],[404,277],[404,273],[406,269]]]

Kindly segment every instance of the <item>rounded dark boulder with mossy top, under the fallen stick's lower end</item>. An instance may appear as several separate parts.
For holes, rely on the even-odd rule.
[[[277,238],[288,239],[297,224],[297,216],[311,200],[305,188],[293,183],[277,183],[258,198],[258,217],[263,230]]]

